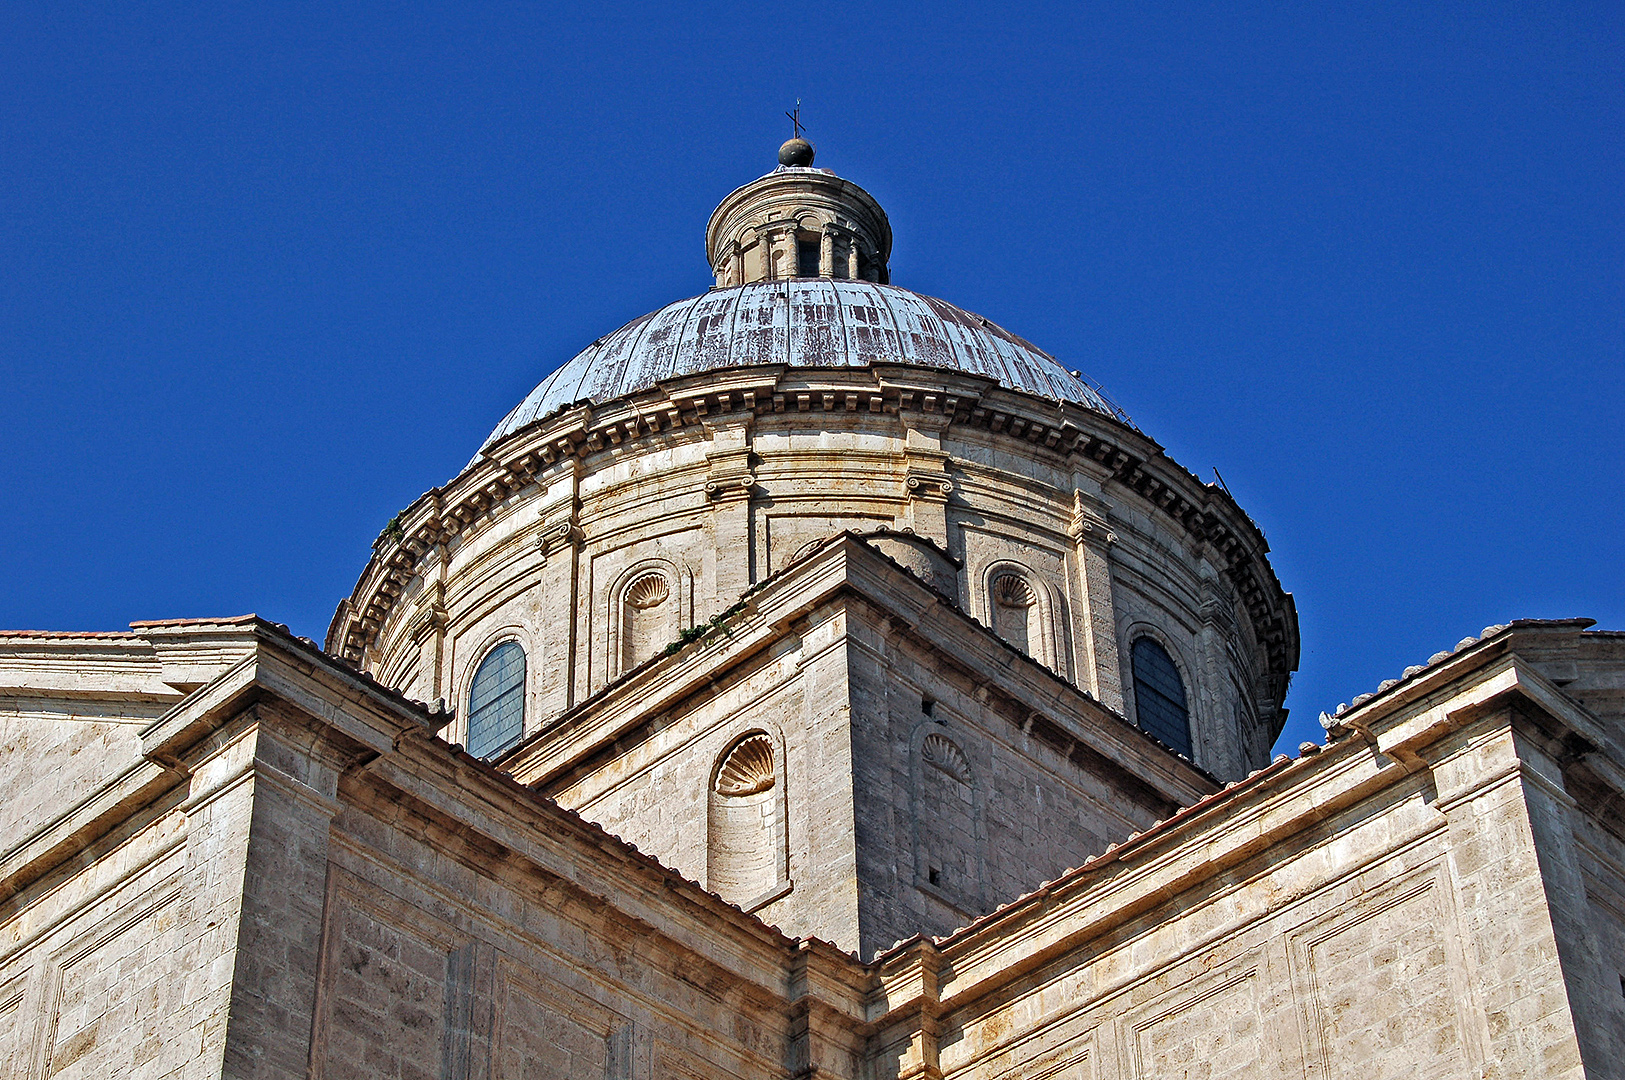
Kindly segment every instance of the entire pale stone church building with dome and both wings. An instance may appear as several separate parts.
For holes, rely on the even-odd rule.
[[[325,650],[0,633],[0,1074],[1620,1075],[1625,635],[1488,627],[1271,760],[1222,487],[890,284],[804,143],[705,247]]]

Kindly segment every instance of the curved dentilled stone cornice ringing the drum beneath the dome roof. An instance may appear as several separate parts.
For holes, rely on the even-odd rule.
[[[1274,700],[1285,697],[1298,663],[1297,611],[1269,567],[1263,533],[1222,487],[1204,484],[1144,434],[1094,409],[1006,390],[962,372],[895,364],[705,372],[596,408],[578,404],[509,435],[385,528],[354,593],[335,612],[327,650],[362,663],[424,555],[481,528],[494,507],[562,461],[655,447],[678,432],[699,437],[707,421],[780,413],[930,416],[960,430],[1019,440],[1034,451],[1087,461],[1212,554],[1264,648]],[[1277,729],[1280,721],[1284,713],[1277,716]]]

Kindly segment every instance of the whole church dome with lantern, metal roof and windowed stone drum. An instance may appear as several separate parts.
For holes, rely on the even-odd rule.
[[[814,607],[772,624],[774,633],[819,642],[801,654],[809,658],[827,645],[817,635],[848,633],[817,627],[858,625],[814,617],[826,601],[811,598],[835,603],[850,588],[869,612],[852,619],[887,611],[889,627],[957,625],[951,643],[933,638],[930,648],[973,640],[978,656],[1024,687],[1042,685],[1042,676],[1032,680],[1038,669],[1060,680],[1043,690],[1048,705],[970,697],[957,706],[965,718],[1016,718],[1035,732],[1034,710],[1060,708],[1094,715],[1103,729],[1133,723],[1220,780],[1264,767],[1297,666],[1297,614],[1246,513],[1061,361],[980,315],[894,286],[881,205],[812,167],[809,146],[788,146],[785,159],[712,213],[713,287],[582,349],[497,424],[458,476],[390,520],[333,616],[328,648],[410,697],[444,698],[458,716],[447,737],[481,755],[544,734],[536,745],[562,747],[575,736],[551,741],[569,728],[556,729],[561,718],[639,672],[665,671],[658,661],[686,656],[702,627],[744,617],[741,604],[756,603],[746,598],[811,590],[795,603]],[[819,577],[830,570],[819,559],[835,559],[837,536],[868,570],[824,593],[837,578]],[[863,577],[871,572],[881,577]],[[985,633],[964,638],[967,619]],[[770,654],[788,658],[778,650]],[[894,736],[930,715],[920,703],[964,698],[960,676],[908,682],[926,677],[920,664],[895,659],[884,677],[907,690],[881,695],[916,705],[864,719],[890,732],[876,736],[889,745],[908,745]],[[1064,706],[1050,697],[1063,685],[1074,695]],[[790,706],[762,705],[760,716],[780,708]],[[894,723],[908,728],[886,728]],[[793,750],[746,739],[756,734],[734,731],[728,745],[767,747],[756,771],[769,776]],[[1048,745],[1094,754],[1076,739],[1056,734]],[[1133,770],[1165,778],[1167,763],[1139,757],[1155,747],[1138,736],[1134,745]],[[687,806],[772,794],[717,786],[720,762],[707,750],[708,794]],[[772,778],[774,797],[790,789],[790,773]],[[699,858],[697,874],[712,880],[710,856]],[[730,900],[786,895],[754,872],[739,870]],[[960,914],[982,909],[977,882],[967,877],[968,892],[946,903],[962,903]],[[822,909],[809,903],[806,913]],[[954,924],[895,929],[920,926]]]

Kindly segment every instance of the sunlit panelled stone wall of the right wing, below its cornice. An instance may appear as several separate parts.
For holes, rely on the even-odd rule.
[[[1487,742],[1464,752],[1511,752],[1510,728]],[[1149,856],[1162,874],[1102,869],[1097,905],[1058,888],[1042,916],[921,950],[942,973],[930,1051],[944,1077],[1612,1075],[1601,1056],[1583,1072],[1528,794],[1514,773],[1406,778],[1228,864],[1235,806],[1199,830],[1227,866],[1193,888],[1157,888],[1178,880],[1170,849]],[[892,1038],[904,1072],[920,1038]]]

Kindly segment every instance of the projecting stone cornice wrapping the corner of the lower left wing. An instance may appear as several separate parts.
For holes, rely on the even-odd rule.
[[[143,755],[130,770],[73,806],[0,858],[0,901],[72,861],[182,784],[205,780],[205,799],[250,773],[271,788],[310,799],[250,754],[219,770],[193,773],[219,750],[218,736],[245,724],[302,724],[301,752],[356,784],[377,786],[390,807],[416,807],[452,828],[460,843],[478,836],[486,851],[518,858],[593,905],[637,922],[665,948],[704,958],[764,1002],[786,1005],[817,996],[822,1009],[850,1023],[861,1013],[873,978],[847,953],[816,940],[785,937],[689,882],[600,827],[543,799],[484,762],[434,739],[445,723],[344,667],[280,627],[254,620],[234,629],[249,654],[143,731]],[[288,732],[283,731],[286,739]],[[236,736],[232,736],[236,737]],[[171,796],[172,799],[174,796]],[[328,801],[332,802],[332,801]],[[338,802],[322,802],[335,812]],[[188,804],[182,804],[185,809]],[[447,849],[455,845],[447,843]]]

